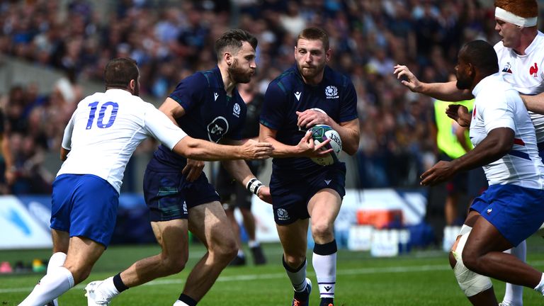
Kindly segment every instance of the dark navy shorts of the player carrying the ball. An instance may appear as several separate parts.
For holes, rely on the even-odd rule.
[[[273,169],[270,193],[274,220],[278,225],[289,225],[296,220],[307,219],[307,205],[320,190],[331,188],[340,198],[346,195],[346,164],[339,163],[320,167],[317,171],[301,174],[300,171]]]

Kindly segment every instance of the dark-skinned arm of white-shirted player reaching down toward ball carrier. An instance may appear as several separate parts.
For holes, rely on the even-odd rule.
[[[477,147],[451,162],[441,161],[421,174],[421,185],[435,185],[448,181],[460,171],[483,166],[504,156],[514,145],[514,130],[495,128],[487,134]]]

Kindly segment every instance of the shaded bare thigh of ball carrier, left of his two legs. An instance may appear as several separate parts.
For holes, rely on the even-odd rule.
[[[309,219],[300,219],[288,225],[276,224],[285,254],[295,257],[306,256],[308,223]]]

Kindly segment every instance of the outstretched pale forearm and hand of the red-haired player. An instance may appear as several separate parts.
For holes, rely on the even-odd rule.
[[[462,101],[474,98],[469,90],[458,89],[456,81],[424,83],[419,81],[406,66],[397,64],[393,68],[395,69],[393,73],[397,75],[397,79],[402,79],[400,83],[415,93],[431,96],[442,101]]]

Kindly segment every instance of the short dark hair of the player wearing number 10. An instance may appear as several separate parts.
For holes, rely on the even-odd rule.
[[[106,64],[104,69],[104,84],[106,88],[125,89],[130,80],[137,80],[140,72],[135,60],[130,57],[118,57]]]

